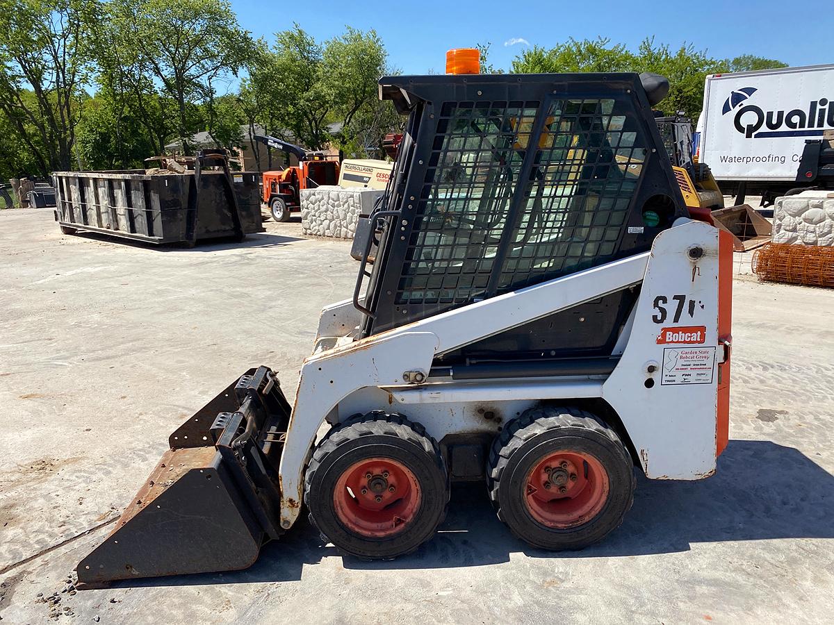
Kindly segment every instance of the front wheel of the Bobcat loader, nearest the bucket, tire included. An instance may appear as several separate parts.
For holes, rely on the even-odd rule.
[[[399,414],[351,418],[319,443],[304,478],[310,520],[340,551],[390,559],[434,536],[449,476],[425,429]]]

